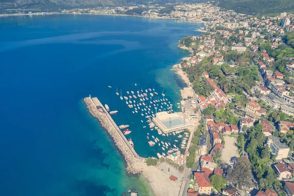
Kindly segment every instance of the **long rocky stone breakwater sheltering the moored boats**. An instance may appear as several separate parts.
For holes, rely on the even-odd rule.
[[[124,137],[123,133],[116,128],[109,114],[99,112],[95,103],[91,98],[84,98],[84,102],[87,105],[88,111],[94,117],[96,117],[101,125],[107,130],[112,137],[115,145],[120,149],[126,162],[126,171],[132,174],[137,174],[143,171],[146,165],[145,159],[139,157],[138,154],[130,147],[128,141]],[[103,107],[103,106],[102,106]]]

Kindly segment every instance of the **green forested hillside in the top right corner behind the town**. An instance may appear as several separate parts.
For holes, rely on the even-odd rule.
[[[248,15],[294,12],[294,0],[216,0],[213,3]]]

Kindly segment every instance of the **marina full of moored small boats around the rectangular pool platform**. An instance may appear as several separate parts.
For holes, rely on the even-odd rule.
[[[117,91],[111,90],[110,92],[116,94]],[[163,92],[162,90],[162,93],[158,95],[154,86],[153,88],[141,87],[141,89],[138,89],[137,87],[137,89],[128,89],[128,91],[121,90],[120,95],[125,100],[117,102],[120,105],[120,110],[123,108],[123,113],[128,114],[126,119],[133,119],[131,122],[121,122],[130,124],[127,126],[120,125],[124,137],[126,139],[132,138],[133,143],[146,141],[146,147],[151,148],[150,150],[153,152],[151,156],[156,157],[159,153],[162,158],[177,151],[182,154],[185,153],[187,144],[185,144],[186,137],[183,137],[183,135],[189,137],[189,129],[192,126],[192,123],[182,113],[174,113],[172,102]],[[111,95],[113,94],[111,93]],[[174,104],[175,107],[177,105]],[[136,118],[132,118],[133,115]],[[137,119],[139,120],[137,121]],[[137,126],[139,123],[142,124],[141,128]],[[148,132],[152,134],[148,136]],[[136,135],[135,139],[133,138],[134,134]],[[138,138],[139,134],[142,136]]]

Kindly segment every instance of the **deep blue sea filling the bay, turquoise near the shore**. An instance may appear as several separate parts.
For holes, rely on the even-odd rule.
[[[0,17],[0,195],[119,196],[132,189],[151,196],[143,176],[126,173],[121,153],[83,98],[98,97],[119,111],[113,119],[130,125],[126,137],[138,154],[156,157],[162,149],[149,147],[147,133],[175,139],[151,131],[140,114],[148,110],[133,114],[116,92],[154,88],[157,99],[164,92],[179,111],[185,84],[170,70],[189,56],[178,41],[201,34],[199,27],[126,16]]]

